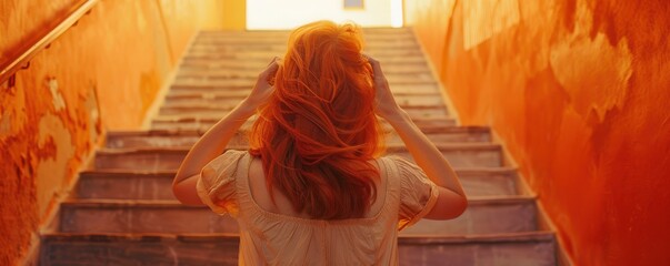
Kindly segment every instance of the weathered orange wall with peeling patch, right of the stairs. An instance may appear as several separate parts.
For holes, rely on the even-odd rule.
[[[670,262],[670,4],[422,0],[462,124],[491,125],[577,265]]]

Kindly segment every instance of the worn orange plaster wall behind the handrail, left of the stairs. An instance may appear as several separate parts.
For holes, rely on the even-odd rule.
[[[0,61],[77,1],[0,2]],[[198,1],[103,0],[0,85],[0,265],[28,256],[107,130],[138,129],[194,34]]]

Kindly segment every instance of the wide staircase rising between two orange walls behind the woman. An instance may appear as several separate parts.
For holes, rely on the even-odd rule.
[[[401,265],[556,265],[536,198],[502,166],[488,127],[457,126],[410,29],[366,29],[398,102],[457,168],[470,206],[453,221],[401,233]],[[43,265],[237,265],[238,227],[206,207],[179,204],[174,171],[209,126],[243,99],[286,50],[287,32],[201,32],[150,131],[110,132],[94,165],[42,235]],[[249,126],[242,126],[241,131]],[[389,133],[388,151],[411,160]],[[244,149],[243,134],[229,144]]]

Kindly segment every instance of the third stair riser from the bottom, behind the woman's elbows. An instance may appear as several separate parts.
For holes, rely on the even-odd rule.
[[[468,196],[517,195],[516,177],[511,174],[459,177]],[[74,195],[78,198],[176,200],[172,195],[172,175],[84,175],[79,178]]]

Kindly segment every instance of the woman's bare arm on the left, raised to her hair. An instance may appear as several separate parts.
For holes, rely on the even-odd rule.
[[[278,68],[278,58],[274,58],[259,74],[249,96],[209,129],[191,147],[172,181],[172,193],[181,203],[203,204],[196,191],[202,167],[223,152],[240,126],[253,115],[260,104],[269,99],[273,88],[268,82],[268,78],[274,75]]]

